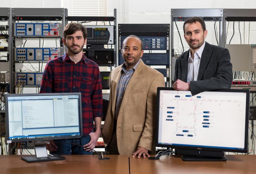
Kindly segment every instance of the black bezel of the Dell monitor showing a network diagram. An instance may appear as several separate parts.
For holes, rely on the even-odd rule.
[[[244,89],[221,89],[213,90],[212,92],[243,92],[246,93],[246,115],[245,115],[245,142],[244,149],[229,149],[229,148],[211,148],[211,147],[202,147],[202,146],[182,146],[182,145],[163,145],[158,142],[158,128],[159,128],[159,97],[160,91],[170,91],[174,90],[173,88],[167,87],[158,87],[157,88],[157,109],[156,109],[156,129],[155,129],[155,144],[156,147],[167,147],[174,149],[189,149],[189,150],[205,150],[205,151],[215,151],[215,152],[237,152],[237,153],[247,153],[248,151],[248,124],[249,124],[249,97],[250,91]],[[211,91],[208,91],[211,92]]]

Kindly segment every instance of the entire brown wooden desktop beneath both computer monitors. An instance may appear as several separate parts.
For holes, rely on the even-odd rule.
[[[101,161],[92,155],[63,155],[65,160],[27,163],[20,155],[0,155],[0,173],[256,173],[256,155],[226,155],[226,162],[184,162],[180,156],[162,156],[159,160],[106,155]]]

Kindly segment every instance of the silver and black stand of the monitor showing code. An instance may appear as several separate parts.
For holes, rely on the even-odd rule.
[[[46,145],[44,141],[34,141],[34,147],[35,147],[36,156],[34,155],[24,156],[24,157],[21,157],[21,159],[23,159],[28,163],[65,159],[65,157],[57,154],[47,155]]]

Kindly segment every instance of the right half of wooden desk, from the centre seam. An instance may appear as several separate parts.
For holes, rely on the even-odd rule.
[[[181,156],[162,156],[159,160],[132,158],[130,173],[256,173],[256,155],[226,155],[226,162],[185,162]]]

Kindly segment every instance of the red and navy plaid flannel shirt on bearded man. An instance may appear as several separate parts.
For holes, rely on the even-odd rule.
[[[84,55],[75,64],[65,53],[45,66],[40,93],[81,92],[83,136],[93,131],[93,119],[103,116],[99,66]],[[45,108],[47,109],[47,108]]]

